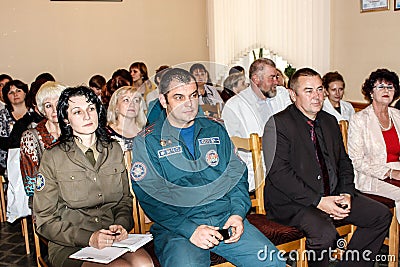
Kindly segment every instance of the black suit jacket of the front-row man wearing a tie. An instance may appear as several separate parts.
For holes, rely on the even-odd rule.
[[[348,193],[353,196],[353,166],[335,117],[320,111],[315,121],[315,127],[320,127],[317,138],[320,145],[325,146],[331,195]],[[264,129],[263,149],[267,167],[264,189],[267,216],[290,224],[300,209],[317,206],[324,194],[310,126],[307,117],[294,104],[269,119]]]

